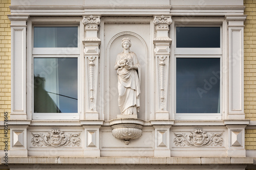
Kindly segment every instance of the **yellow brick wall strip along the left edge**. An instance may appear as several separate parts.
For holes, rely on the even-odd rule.
[[[11,0],[0,0],[0,121],[11,111],[11,28],[8,16]],[[4,150],[4,130],[0,127],[0,150]],[[10,137],[10,131],[8,133]],[[9,138],[10,145],[10,138]]]

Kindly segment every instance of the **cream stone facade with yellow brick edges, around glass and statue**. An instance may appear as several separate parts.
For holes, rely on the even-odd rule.
[[[8,112],[10,169],[256,169],[255,2],[145,3],[2,0],[0,155]],[[46,26],[77,27],[77,51],[35,48],[33,29]],[[221,61],[221,111],[179,115],[176,58],[209,52],[179,50],[175,30],[199,26],[221,29],[221,50],[210,51]],[[114,63],[124,37],[141,65],[138,115],[119,115],[117,104]],[[34,113],[33,60],[51,55],[78,60],[76,114]],[[6,168],[4,158],[1,163]]]

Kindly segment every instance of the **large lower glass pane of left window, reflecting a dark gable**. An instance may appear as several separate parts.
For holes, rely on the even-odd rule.
[[[77,58],[34,58],[34,113],[77,113]]]

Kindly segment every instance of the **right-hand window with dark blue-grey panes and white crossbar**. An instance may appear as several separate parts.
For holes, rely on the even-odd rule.
[[[176,26],[176,119],[221,119],[221,26]]]

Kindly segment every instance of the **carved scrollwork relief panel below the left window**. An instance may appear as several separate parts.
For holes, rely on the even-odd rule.
[[[74,147],[75,145],[80,145],[80,133],[66,135],[61,130],[50,130],[46,134],[33,134],[31,142],[33,146],[42,147],[46,145],[47,147],[65,147],[67,145]]]

